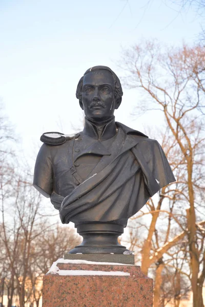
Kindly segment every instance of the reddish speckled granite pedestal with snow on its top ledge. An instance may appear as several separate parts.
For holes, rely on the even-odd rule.
[[[140,267],[66,261],[74,260],[44,276],[43,307],[152,307],[152,279]]]

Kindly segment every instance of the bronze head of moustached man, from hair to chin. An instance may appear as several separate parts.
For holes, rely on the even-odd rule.
[[[112,118],[121,103],[122,88],[117,75],[106,66],[88,69],[80,78],[76,97],[88,119],[105,121]]]

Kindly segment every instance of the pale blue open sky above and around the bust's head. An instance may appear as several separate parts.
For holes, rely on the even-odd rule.
[[[194,11],[178,13],[172,1],[143,3],[0,0],[0,96],[26,153],[36,155],[44,131],[69,134],[80,126],[75,90],[89,67],[107,65],[120,77],[121,48],[140,38],[175,46],[197,38],[202,19]],[[143,131],[142,121],[130,117],[137,95],[124,89],[116,119]]]

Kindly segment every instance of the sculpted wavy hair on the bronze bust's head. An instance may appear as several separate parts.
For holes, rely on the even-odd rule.
[[[82,90],[83,90],[83,79],[84,76],[89,73],[89,72],[93,72],[93,71],[97,71],[97,70],[107,70],[109,71],[114,79],[114,91],[115,91],[115,99],[119,99],[122,97],[123,92],[122,92],[122,87],[121,87],[121,83],[119,81],[119,78],[117,77],[117,75],[107,66],[94,66],[89,68],[85,74],[83,75],[83,77],[80,78],[78,84],[77,84],[77,90],[76,90],[76,98],[79,99],[79,101],[82,101]]]

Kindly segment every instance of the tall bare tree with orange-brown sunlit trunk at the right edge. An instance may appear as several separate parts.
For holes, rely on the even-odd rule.
[[[164,115],[170,140],[165,140],[168,146],[163,147],[177,178],[175,184],[160,190],[157,206],[152,200],[148,202],[152,220],[142,247],[142,269],[147,272],[182,238],[188,238],[194,307],[203,306],[205,278],[204,213],[201,210],[204,204],[204,55],[205,48],[201,46],[166,49],[157,42],[147,41],[126,50],[121,61],[127,71],[125,83],[141,90],[140,105],[153,112],[158,109]],[[167,213],[168,231],[160,246],[156,223],[163,212],[162,203],[168,207],[163,210],[167,211],[164,213]],[[171,223],[176,223],[179,230],[172,238]]]

